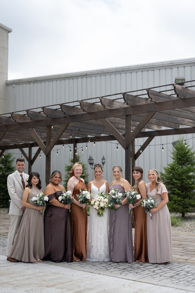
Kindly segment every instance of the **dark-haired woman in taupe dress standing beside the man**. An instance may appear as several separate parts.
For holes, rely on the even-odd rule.
[[[26,209],[9,256],[23,262],[38,263],[44,256],[43,215],[41,214],[44,206],[37,206],[30,199],[42,192],[39,173],[32,172],[27,182],[22,200]]]

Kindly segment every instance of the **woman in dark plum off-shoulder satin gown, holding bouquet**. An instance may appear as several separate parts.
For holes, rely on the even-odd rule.
[[[65,189],[60,184],[61,181],[61,173],[53,171],[50,183],[44,190],[44,194],[49,197],[44,212],[44,260],[70,263],[73,261],[70,205],[58,201],[62,190]]]

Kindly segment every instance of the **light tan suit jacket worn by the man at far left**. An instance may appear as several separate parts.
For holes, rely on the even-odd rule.
[[[29,175],[24,173],[25,177],[25,185],[27,184],[26,180],[28,179]],[[8,175],[7,178],[7,188],[8,193],[11,198],[9,214],[15,216],[21,216],[23,214],[23,204],[22,198],[24,193],[24,188],[22,185],[22,180],[18,176],[17,171]]]

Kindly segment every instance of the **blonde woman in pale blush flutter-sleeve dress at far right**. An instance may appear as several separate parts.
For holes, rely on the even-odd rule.
[[[167,207],[168,192],[156,169],[148,172],[151,183],[146,183],[147,197],[158,200],[151,209],[152,219],[147,212],[148,257],[150,263],[170,263],[172,258],[171,218]]]

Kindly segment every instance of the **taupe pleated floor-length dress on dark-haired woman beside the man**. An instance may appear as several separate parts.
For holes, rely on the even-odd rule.
[[[30,199],[33,196],[37,196],[38,193],[41,193],[41,190],[32,187],[27,198],[27,203],[37,206]],[[22,260],[23,262],[31,263],[34,260],[43,258],[43,215],[38,209],[30,209],[28,207],[25,209],[9,256]]]

